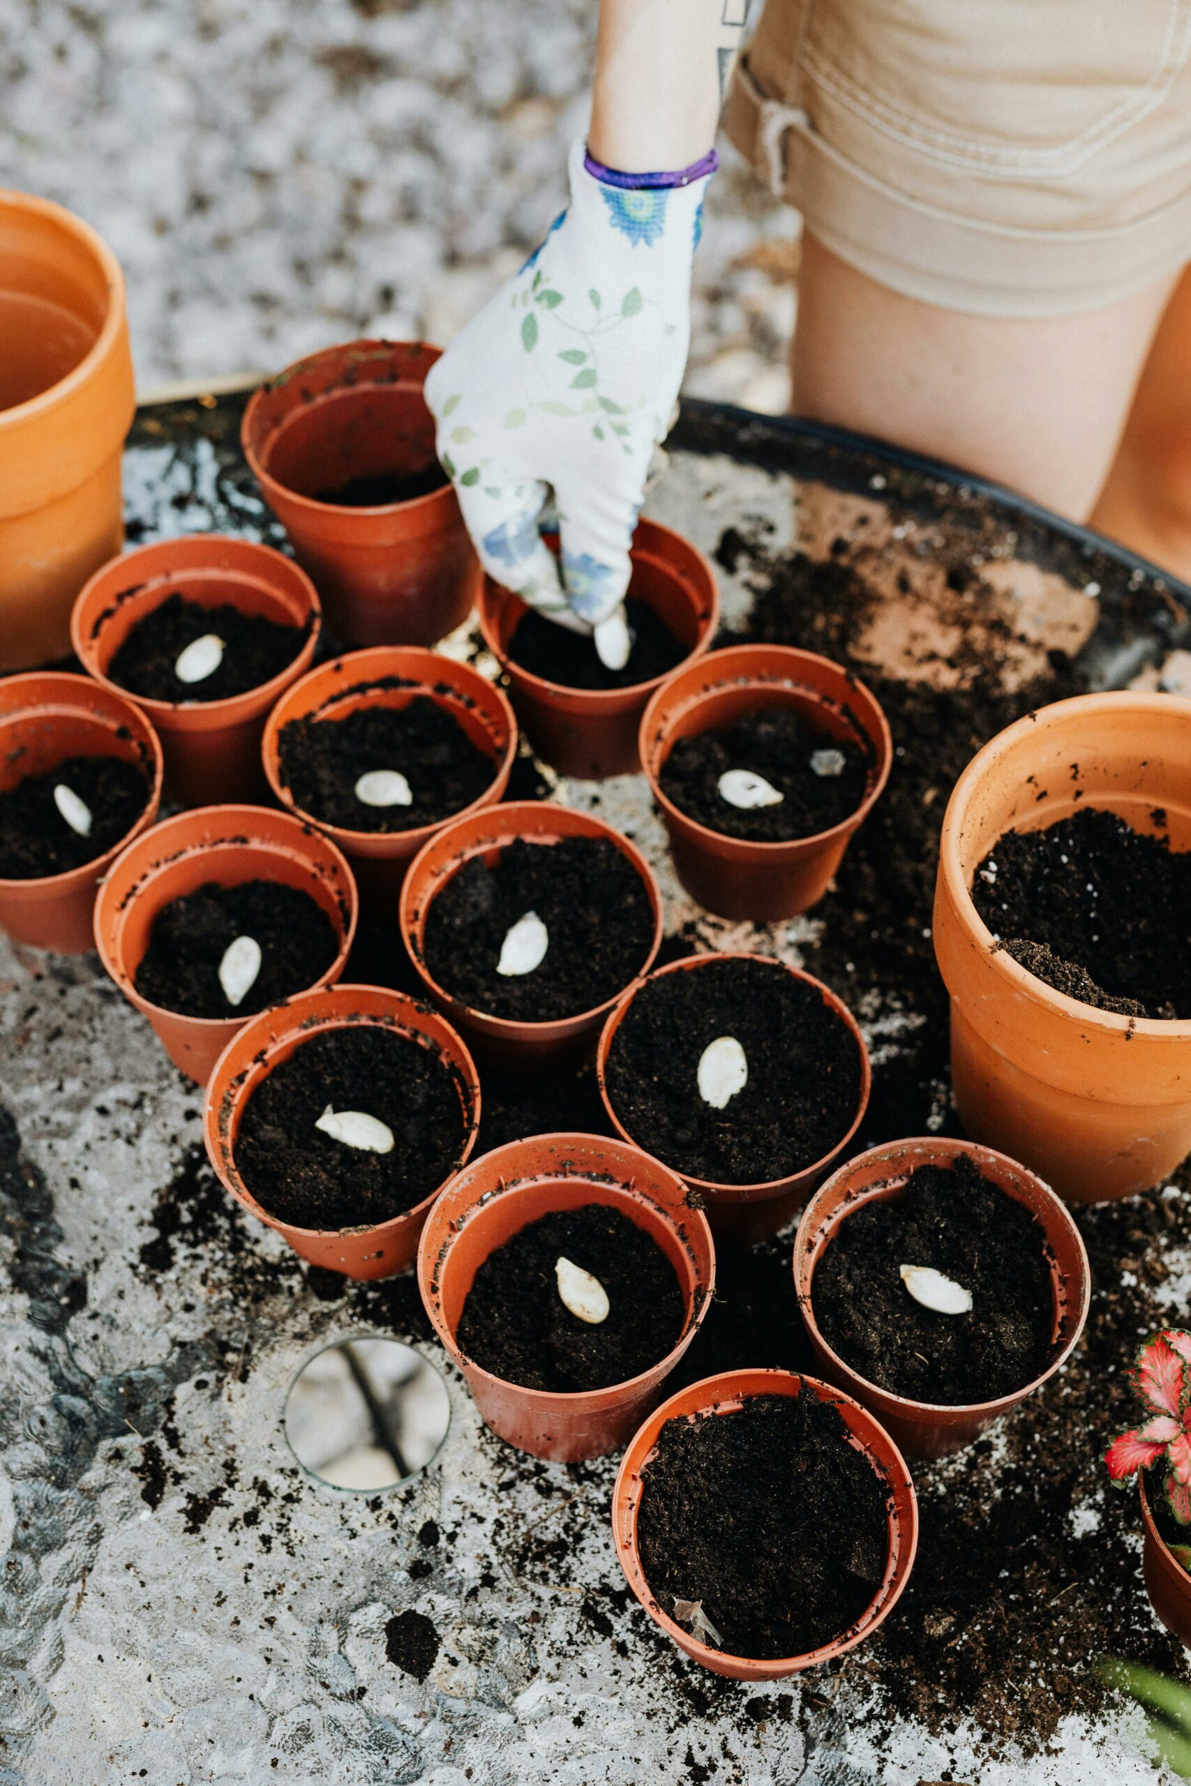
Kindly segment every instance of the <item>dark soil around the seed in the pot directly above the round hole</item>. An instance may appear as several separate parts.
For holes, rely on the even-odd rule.
[[[393,1131],[387,1154],[334,1141],[314,1123],[362,1111]],[[261,1081],[245,1104],[236,1168],[279,1222],[373,1227],[412,1209],[459,1164],[466,1123],[443,1057],[377,1023],[321,1031]]]

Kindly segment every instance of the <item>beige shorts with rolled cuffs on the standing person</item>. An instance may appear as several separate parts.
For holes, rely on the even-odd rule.
[[[1191,261],[1191,0],[766,0],[727,129],[945,309],[1062,316]]]

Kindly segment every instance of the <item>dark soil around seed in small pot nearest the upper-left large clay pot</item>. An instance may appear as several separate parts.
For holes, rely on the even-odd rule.
[[[173,670],[179,652],[207,632],[223,639],[218,670],[202,682],[179,680]],[[204,607],[175,589],[129,629],[107,675],[145,700],[227,700],[280,675],[302,650],[307,632],[309,627],[287,627],[264,614],[245,614],[232,602]]]

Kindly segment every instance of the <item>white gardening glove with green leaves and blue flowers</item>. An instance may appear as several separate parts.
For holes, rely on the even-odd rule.
[[[700,163],[689,184],[621,188],[596,179],[575,143],[570,209],[425,384],[437,455],[484,570],[559,625],[595,634],[614,670],[632,643],[629,545],[682,382],[714,164]],[[561,577],[539,534],[550,493]]]

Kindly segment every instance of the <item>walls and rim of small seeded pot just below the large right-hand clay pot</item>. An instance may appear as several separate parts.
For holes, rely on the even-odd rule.
[[[814,1268],[830,1247],[839,1223],[846,1222],[861,1204],[879,1197],[896,1197],[918,1166],[952,1166],[961,1154],[968,1154],[982,1177],[1000,1186],[1007,1197],[1025,1204],[1041,1223],[1054,1295],[1052,1340],[1057,1350],[1041,1375],[1034,1377],[1032,1382],[1023,1382],[1012,1395],[1004,1395],[996,1402],[911,1402],[904,1395],[893,1395],[889,1390],[868,1382],[832,1352],[814,1320]],[[1016,1159],[995,1154],[987,1147],[929,1136],[918,1141],[889,1141],[884,1147],[873,1147],[868,1154],[850,1159],[816,1191],[795,1239],[795,1291],[823,1375],[871,1409],[911,1457],[946,1457],[950,1452],[971,1445],[1000,1415],[1009,1413],[1027,1395],[1041,1390],[1066,1365],[1087,1320],[1091,1273],[1075,1222],[1041,1179],[1020,1166]]]

